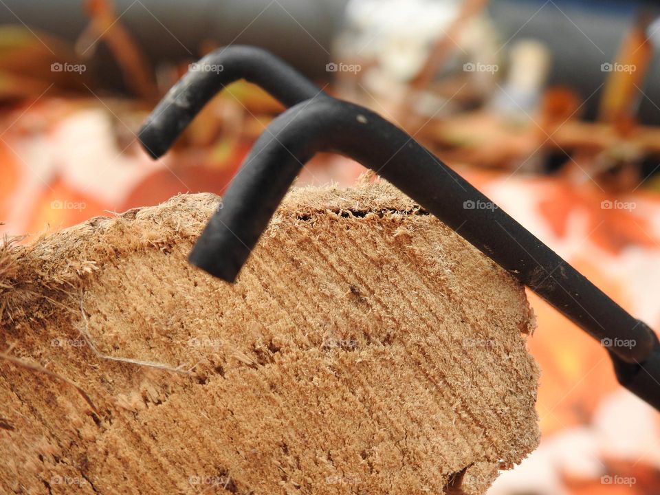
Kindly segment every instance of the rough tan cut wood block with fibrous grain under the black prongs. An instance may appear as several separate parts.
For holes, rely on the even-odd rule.
[[[461,237],[294,190],[230,286],[186,262],[218,204],[0,250],[0,492],[481,494],[536,448],[525,293]]]

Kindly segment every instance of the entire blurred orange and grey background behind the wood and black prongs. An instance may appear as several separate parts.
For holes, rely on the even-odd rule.
[[[230,85],[158,162],[135,133],[190,63],[253,44],[403,127],[657,329],[659,40],[660,8],[643,1],[4,0],[0,229],[29,242],[221,194],[282,111],[263,91]],[[319,155],[297,184],[363,170]],[[657,413],[621,391],[597,342],[529,298],[543,439],[490,493],[660,493]]]

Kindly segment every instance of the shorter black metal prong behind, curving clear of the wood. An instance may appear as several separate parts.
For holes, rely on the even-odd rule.
[[[211,52],[188,71],[157,104],[138,137],[159,158],[202,107],[230,83],[245,79],[263,87],[286,107],[325,93],[293,67],[261,48],[232,45]]]

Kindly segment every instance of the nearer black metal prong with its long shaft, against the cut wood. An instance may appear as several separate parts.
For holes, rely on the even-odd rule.
[[[655,333],[410,135],[355,104],[325,96],[279,115],[234,177],[224,207],[195,244],[191,263],[233,282],[296,175],[320,151],[372,168],[460,230],[478,250],[600,340],[619,382],[660,409],[660,342]]]

